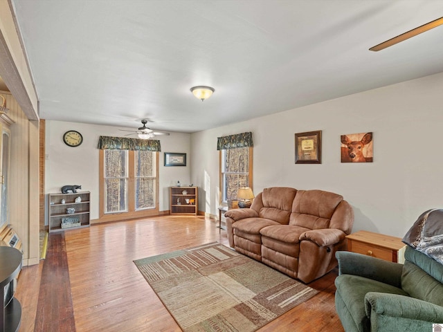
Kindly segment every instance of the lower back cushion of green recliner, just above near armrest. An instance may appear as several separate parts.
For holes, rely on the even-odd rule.
[[[405,261],[401,288],[411,297],[443,306],[443,284],[410,261]]]

